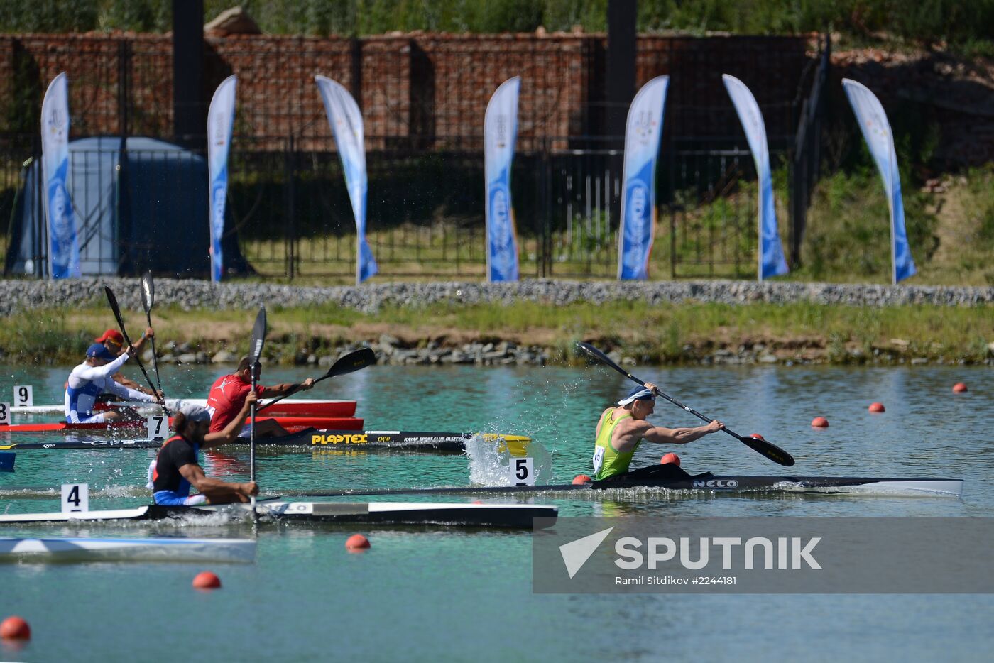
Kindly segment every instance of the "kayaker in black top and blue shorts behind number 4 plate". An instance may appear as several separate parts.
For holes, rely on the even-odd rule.
[[[179,405],[173,414],[176,434],[162,443],[149,467],[149,488],[156,504],[230,504],[248,502],[248,498],[258,495],[258,486],[253,481],[234,483],[207,476],[198,458],[201,448],[227,444],[238,437],[251,404],[257,400],[255,393],[249,392],[238,416],[220,432],[208,432],[211,413],[206,408],[191,403]],[[196,488],[198,494],[191,495],[191,488]]]

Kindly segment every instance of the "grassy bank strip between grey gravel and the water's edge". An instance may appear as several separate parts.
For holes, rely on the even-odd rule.
[[[137,335],[143,321],[127,321]],[[157,308],[153,324],[164,352],[247,350],[252,315],[245,311]],[[574,347],[589,341],[640,363],[721,363],[730,356],[764,363],[983,363],[994,356],[994,323],[984,308],[869,308],[812,303],[714,303],[509,307],[435,305],[365,314],[337,306],[271,309],[267,359],[283,364],[331,354],[346,344],[461,347],[513,341],[543,348],[558,363],[579,363]],[[113,326],[105,308],[42,310],[7,318],[0,329],[5,363],[74,364],[91,339]],[[173,345],[181,346],[173,349]],[[184,344],[186,344],[185,347]],[[731,353],[731,354],[730,354]],[[738,360],[737,360],[738,361]]]

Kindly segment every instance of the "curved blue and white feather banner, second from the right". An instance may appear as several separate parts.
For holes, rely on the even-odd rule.
[[[780,234],[776,229],[776,205],[773,201],[773,177],[769,170],[769,145],[766,143],[766,125],[762,121],[759,104],[745,83],[729,76],[722,76],[725,87],[729,90],[732,103],[739,113],[739,120],[745,129],[745,139],[748,141],[752,160],[755,162],[755,175],[759,188],[759,266],[756,278],[762,280],[769,276],[779,276],[787,273],[787,261],[783,257],[783,245]]]

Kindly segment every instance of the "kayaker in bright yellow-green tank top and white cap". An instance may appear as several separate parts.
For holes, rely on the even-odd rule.
[[[658,393],[658,388],[647,382],[645,387],[632,390],[618,401],[617,407],[608,408],[600,414],[593,449],[594,479],[682,479],[690,476],[673,464],[628,469],[631,457],[643,439],[657,444],[686,444],[725,427],[721,421],[696,428],[664,428],[649,423],[645,419],[655,409]]]

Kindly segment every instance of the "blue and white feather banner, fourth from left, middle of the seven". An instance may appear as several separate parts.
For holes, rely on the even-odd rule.
[[[487,280],[518,280],[518,240],[511,206],[511,161],[518,137],[521,77],[500,84],[483,118],[483,175],[486,181]]]

